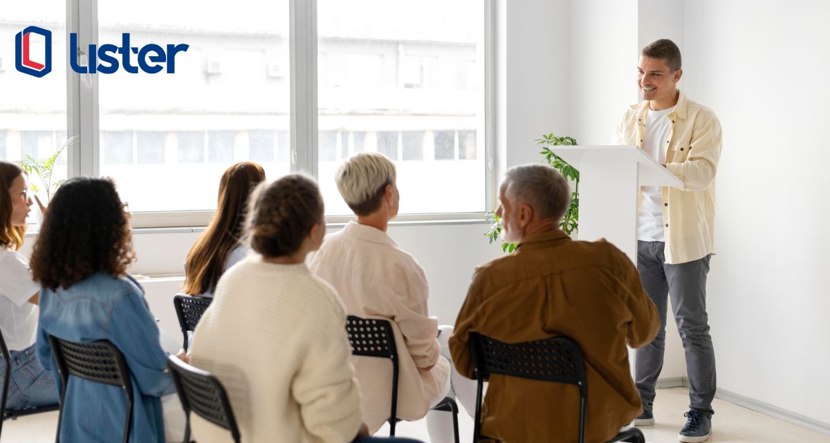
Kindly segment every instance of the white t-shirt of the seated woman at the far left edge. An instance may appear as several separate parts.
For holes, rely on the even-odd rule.
[[[29,260],[0,246],[0,330],[9,351],[35,343],[37,305],[29,303],[41,286],[32,281]]]

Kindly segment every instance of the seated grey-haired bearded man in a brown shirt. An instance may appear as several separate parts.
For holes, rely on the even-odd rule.
[[[650,342],[660,320],[623,252],[603,239],[572,241],[559,229],[569,195],[549,166],[507,171],[496,214],[505,241],[519,246],[476,268],[450,349],[458,371],[474,377],[471,332],[509,343],[573,338],[588,377],[585,441],[603,442],[641,411],[626,345]],[[482,423],[484,435],[502,441],[576,441],[579,390],[493,375]]]

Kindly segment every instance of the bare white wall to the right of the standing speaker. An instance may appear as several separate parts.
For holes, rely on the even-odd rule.
[[[830,424],[830,2],[685,3],[689,96],[723,126],[718,385]]]

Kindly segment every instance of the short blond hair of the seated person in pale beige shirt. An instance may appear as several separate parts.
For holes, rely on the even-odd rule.
[[[380,208],[386,185],[395,184],[395,164],[383,154],[361,152],[339,167],[334,182],[354,214],[369,215]]]

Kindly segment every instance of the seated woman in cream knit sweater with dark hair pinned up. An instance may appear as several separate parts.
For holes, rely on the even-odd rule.
[[[255,253],[219,280],[191,363],[222,382],[243,441],[374,441],[360,416],[343,303],[304,263],[325,234],[317,185],[302,175],[260,185],[247,229]],[[231,441],[195,414],[191,422],[198,441]]]

